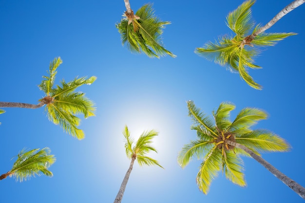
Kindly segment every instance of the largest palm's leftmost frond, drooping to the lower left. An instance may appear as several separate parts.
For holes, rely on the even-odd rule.
[[[178,154],[177,161],[179,165],[184,168],[191,162],[193,156],[195,156],[198,160],[204,159],[205,155],[209,153],[210,149],[214,146],[215,145],[213,144],[212,140],[191,141],[189,144],[183,146]]]

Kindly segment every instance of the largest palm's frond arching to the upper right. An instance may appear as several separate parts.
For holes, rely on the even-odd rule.
[[[239,133],[251,126],[257,124],[258,121],[267,119],[267,112],[257,108],[244,108],[241,110],[232,125],[227,129],[232,133]],[[238,136],[238,135],[237,135]]]

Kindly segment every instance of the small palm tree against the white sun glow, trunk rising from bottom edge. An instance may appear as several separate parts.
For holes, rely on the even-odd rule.
[[[124,191],[125,191],[130,173],[133,169],[133,163],[134,163],[135,159],[137,159],[137,162],[140,166],[157,165],[157,166],[160,166],[161,168],[163,168],[158,163],[158,161],[147,156],[147,153],[149,153],[150,151],[157,152],[157,150],[151,146],[152,138],[154,136],[158,135],[158,133],[156,131],[154,131],[154,130],[144,131],[135,143],[134,143],[134,140],[132,138],[130,138],[130,133],[129,133],[127,126],[125,126],[125,129],[123,130],[123,135],[126,140],[126,143],[125,143],[126,155],[132,161],[125,174],[121,187],[115,197],[114,203],[120,203],[122,201]]]

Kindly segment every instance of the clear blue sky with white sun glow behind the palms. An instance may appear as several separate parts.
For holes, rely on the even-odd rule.
[[[267,23],[291,0],[257,0],[256,22]],[[136,11],[148,1],[131,0]],[[0,182],[0,203],[111,203],[128,169],[122,130],[134,137],[155,129],[158,154],[165,169],[134,164],[123,203],[301,203],[290,188],[250,158],[243,158],[247,187],[229,182],[222,174],[201,193],[195,183],[200,166],[185,169],[176,156],[196,139],[190,129],[186,101],[211,114],[223,101],[236,105],[232,119],[245,107],[268,112],[254,128],[269,129],[292,146],[285,153],[263,154],[269,163],[305,186],[304,74],[305,5],[301,5],[268,32],[295,32],[256,59],[261,70],[250,70],[263,85],[250,88],[238,74],[194,54],[196,47],[229,34],[226,15],[243,0],[154,0],[156,15],[171,21],[163,42],[176,58],[152,59],[131,54],[121,44],[114,24],[126,10],[123,0],[0,0],[0,101],[37,104],[43,92],[37,85],[49,63],[60,56],[57,82],[76,76],[97,76],[80,88],[94,100],[95,117],[82,121],[86,138],[77,140],[49,122],[43,108],[5,109],[0,115],[0,173],[12,167],[22,148],[49,147],[57,161],[52,178]]]

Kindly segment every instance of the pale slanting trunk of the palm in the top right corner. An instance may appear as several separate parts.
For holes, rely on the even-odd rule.
[[[249,44],[256,36],[261,34],[262,32],[269,29],[272,25],[274,25],[277,21],[279,21],[281,18],[283,18],[287,13],[295,9],[296,7],[303,4],[305,0],[294,0],[290,4],[288,4],[282,11],[280,11],[274,18],[272,18],[265,26],[258,29],[255,33],[252,35],[249,35],[243,40],[243,44]]]

